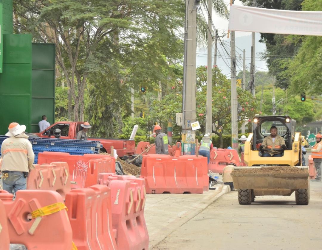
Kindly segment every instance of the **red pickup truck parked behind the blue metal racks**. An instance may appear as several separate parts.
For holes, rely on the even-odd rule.
[[[76,139],[77,132],[81,129],[81,124],[83,121],[59,121],[52,124],[50,127],[45,129],[40,133],[35,133],[39,137],[44,138],[55,138],[53,132],[55,129],[62,130],[61,139]],[[135,152],[135,141],[126,139],[109,139],[109,138],[88,138],[92,141],[100,141],[103,148],[100,149],[101,152],[111,152],[111,146],[117,150],[119,157],[125,155],[133,155]]]

